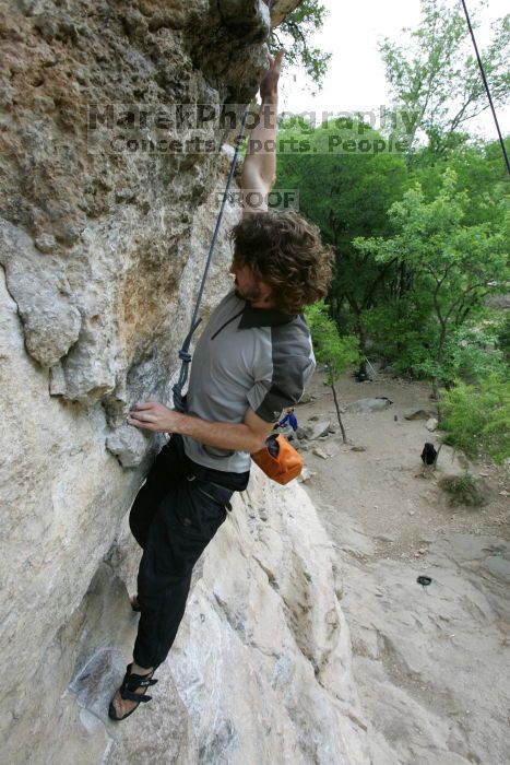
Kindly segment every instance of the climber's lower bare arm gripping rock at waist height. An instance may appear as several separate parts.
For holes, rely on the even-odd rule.
[[[189,414],[181,414],[157,401],[138,403],[129,413],[128,423],[155,433],[178,433],[220,449],[248,451],[262,449],[265,437],[273,429],[272,423],[248,409],[242,423],[210,422]]]

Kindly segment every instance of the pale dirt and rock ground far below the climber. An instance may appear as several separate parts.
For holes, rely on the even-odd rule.
[[[381,412],[345,414],[340,436],[304,452],[316,475],[304,486],[332,540],[354,647],[354,672],[370,720],[373,765],[508,765],[510,530],[501,471],[477,464],[489,502],[452,507],[437,479],[422,476],[425,442],[438,444],[410,408],[434,412],[429,389],[379,376],[337,385],[342,404],[388,397]],[[331,419],[331,391],[316,374],[300,425]],[[396,417],[396,421],[395,421]],[[353,451],[352,445],[365,447]],[[462,464],[442,447],[437,476]],[[503,492],[501,494],[500,492]],[[432,578],[429,587],[416,577]]]

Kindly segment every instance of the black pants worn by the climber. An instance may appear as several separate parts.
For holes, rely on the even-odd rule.
[[[141,605],[134,661],[158,667],[170,650],[185,613],[191,573],[226,518],[226,505],[249,473],[203,468],[173,436],[137,495],[129,522],[143,555],[138,575]]]

